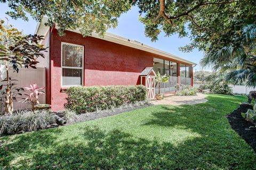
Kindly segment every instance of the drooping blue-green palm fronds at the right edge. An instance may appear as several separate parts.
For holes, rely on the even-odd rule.
[[[242,33],[231,37],[230,44],[205,52],[200,64],[226,72],[225,79],[219,81],[256,87],[256,24],[245,25]]]

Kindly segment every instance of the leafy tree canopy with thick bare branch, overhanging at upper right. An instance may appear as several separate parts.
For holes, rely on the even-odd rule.
[[[161,31],[166,36],[174,33],[189,36],[191,44],[181,48],[188,52],[193,48],[209,50],[225,45],[245,24],[254,22],[256,16],[256,2],[250,0],[141,0],[134,3],[140,8],[146,36],[157,40]]]

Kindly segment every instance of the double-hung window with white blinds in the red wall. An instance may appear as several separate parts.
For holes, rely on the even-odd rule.
[[[83,85],[84,47],[62,43],[61,50],[62,86]]]

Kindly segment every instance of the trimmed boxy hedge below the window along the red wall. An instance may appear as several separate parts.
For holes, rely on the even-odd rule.
[[[144,101],[147,89],[142,85],[70,87],[66,94],[68,97],[65,108],[86,113]]]

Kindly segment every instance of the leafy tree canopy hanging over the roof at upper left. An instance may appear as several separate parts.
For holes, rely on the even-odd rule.
[[[0,0],[7,3],[12,11],[7,14],[14,19],[28,20],[29,13],[36,21],[47,16],[47,25],[58,25],[60,35],[64,30],[79,29],[84,36],[92,32],[103,35],[110,27],[116,27],[117,18],[130,10],[131,3],[126,0]]]

